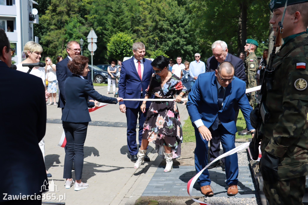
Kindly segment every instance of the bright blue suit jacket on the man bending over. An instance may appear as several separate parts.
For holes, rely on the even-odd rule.
[[[237,129],[234,122],[233,103],[238,102],[243,112],[247,129],[253,129],[249,119],[252,108],[245,94],[246,83],[235,77],[226,87],[221,110],[217,105],[217,83],[215,72],[202,73],[198,76],[188,95],[187,111],[191,121],[202,119],[203,124],[209,128],[218,115],[221,124],[231,134],[235,134]]]

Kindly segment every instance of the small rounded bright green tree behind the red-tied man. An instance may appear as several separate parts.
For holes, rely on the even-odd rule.
[[[122,60],[132,55],[133,40],[129,34],[119,32],[110,38],[107,44],[107,54],[111,58]]]

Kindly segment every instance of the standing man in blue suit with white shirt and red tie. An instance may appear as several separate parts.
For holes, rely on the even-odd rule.
[[[142,42],[135,42],[132,46],[134,56],[124,62],[120,71],[119,97],[129,99],[144,98],[145,90],[150,83],[153,67],[151,61],[144,58],[145,46]],[[127,119],[127,146],[131,155],[131,161],[137,161],[136,126],[139,119],[138,141],[139,147],[142,139],[143,124],[150,106],[150,101],[146,103],[146,111],[141,112],[142,101],[120,102],[120,111],[126,114]],[[139,117],[138,117],[139,115]],[[149,162],[150,158],[146,154],[144,161]]]

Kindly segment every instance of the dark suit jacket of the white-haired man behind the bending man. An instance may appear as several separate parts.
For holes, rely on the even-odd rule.
[[[228,53],[227,58],[225,61],[232,63],[234,66],[234,76],[240,78],[243,81],[247,81],[246,74],[245,74],[245,67],[243,60],[238,58],[230,53]],[[206,61],[206,69],[205,72],[213,72],[217,69],[218,61],[214,56],[208,58]]]

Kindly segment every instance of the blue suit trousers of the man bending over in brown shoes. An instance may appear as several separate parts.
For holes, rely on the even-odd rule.
[[[195,124],[193,127],[195,128],[195,136],[196,136],[196,148],[195,148],[195,167],[196,172],[201,171],[208,164],[208,141],[202,139],[198,128],[196,128]],[[224,126],[221,124],[218,125],[217,130],[212,130],[209,128],[209,131],[213,136],[219,136],[222,144],[222,148],[224,152],[230,151],[235,148],[234,144],[234,134],[229,133]],[[225,167],[226,167],[226,184],[237,184],[238,179],[238,162],[237,162],[237,153],[233,155],[229,155],[225,157]],[[205,169],[203,173],[200,175],[198,179],[198,183],[200,186],[210,185],[211,180],[209,178],[209,171]]]

